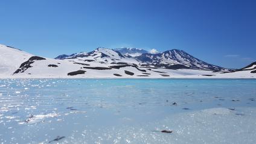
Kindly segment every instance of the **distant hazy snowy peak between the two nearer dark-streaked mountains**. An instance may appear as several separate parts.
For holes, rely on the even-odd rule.
[[[137,57],[141,54],[145,54],[145,53],[149,53],[148,51],[144,50],[144,49],[138,49],[138,48],[117,48],[117,49],[113,49],[114,51],[118,51],[123,55],[130,55],[132,57]]]

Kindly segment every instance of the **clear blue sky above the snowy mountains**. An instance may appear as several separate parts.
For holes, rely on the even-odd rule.
[[[0,1],[0,43],[32,54],[182,49],[228,68],[256,61],[254,0]]]

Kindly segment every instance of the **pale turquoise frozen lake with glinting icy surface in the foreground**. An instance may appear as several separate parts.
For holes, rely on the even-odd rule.
[[[0,80],[0,143],[255,142],[256,80]]]

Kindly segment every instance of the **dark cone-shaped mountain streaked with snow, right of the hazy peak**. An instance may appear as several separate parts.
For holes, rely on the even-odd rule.
[[[159,54],[142,54],[135,57],[137,60],[144,64],[153,64],[155,66],[171,66],[177,65],[187,69],[200,69],[200,70],[214,70],[214,71],[229,71],[220,66],[206,63],[205,61],[199,60],[193,57],[185,51],[179,49],[171,49],[164,51]]]

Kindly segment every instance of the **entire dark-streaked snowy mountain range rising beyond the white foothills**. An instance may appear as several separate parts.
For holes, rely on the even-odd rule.
[[[126,52],[122,54],[121,52]],[[229,69],[225,69],[220,66],[215,66],[213,64],[206,63],[205,61],[199,60],[193,57],[185,51],[178,49],[172,49],[158,54],[149,53],[139,53],[139,56],[131,57],[127,52],[133,54],[138,54],[138,52],[146,52],[143,49],[135,48],[121,48],[121,49],[107,49],[107,48],[97,48],[92,52],[77,53],[69,55],[66,58],[61,59],[74,59],[83,58],[90,61],[98,61],[101,63],[135,63],[142,64],[143,66],[153,66],[153,67],[165,67],[167,69],[200,69],[200,70],[214,70],[228,72]],[[136,53],[134,53],[136,52]],[[61,55],[60,55],[61,56]],[[59,56],[59,57],[60,57]],[[60,58],[58,58],[60,59]]]

